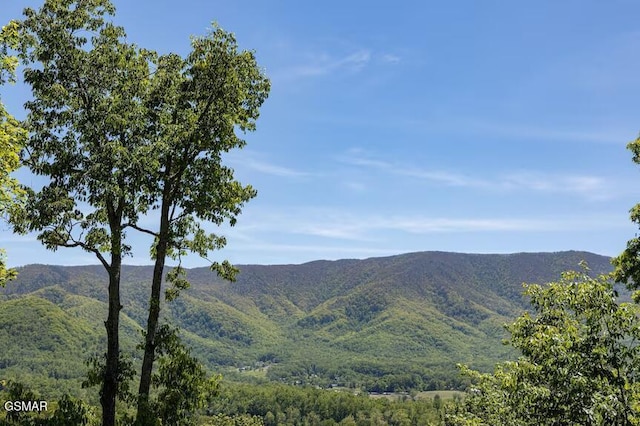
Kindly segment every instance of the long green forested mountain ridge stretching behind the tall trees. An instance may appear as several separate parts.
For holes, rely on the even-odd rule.
[[[522,283],[544,283],[587,252],[409,253],[302,265],[240,265],[237,282],[207,268],[163,308],[193,353],[227,377],[364,387],[444,389],[456,363],[491,369],[514,354],[502,325],[528,309]],[[123,349],[146,319],[152,268],[123,269]],[[77,389],[84,360],[104,347],[107,277],[101,266],[30,265],[0,289],[0,379]]]

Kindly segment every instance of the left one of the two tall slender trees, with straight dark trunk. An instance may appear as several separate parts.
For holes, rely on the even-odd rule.
[[[108,0],[46,0],[27,8],[18,28],[19,57],[33,100],[24,163],[49,181],[29,189],[12,212],[17,232],[38,232],[51,250],[80,247],[109,276],[106,366],[100,403],[115,423],[119,374],[120,270],[130,252],[125,231],[148,211],[138,188],[148,178],[143,99],[153,55],[125,43],[105,20]],[[7,44],[4,45],[6,47]]]

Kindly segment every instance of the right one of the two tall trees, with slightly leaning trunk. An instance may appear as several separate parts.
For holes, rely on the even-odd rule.
[[[172,300],[188,286],[181,256],[193,252],[204,258],[226,243],[207,233],[201,221],[233,226],[242,205],[256,195],[251,186],[234,180],[233,170],[222,164],[222,154],[242,148],[236,129],[255,129],[259,108],[269,93],[269,80],[258,68],[253,52],[238,51],[234,36],[214,26],[212,32],[192,40],[186,58],[161,56],[149,84],[145,102],[153,167],[144,187],[147,202],[159,211],[156,229],[132,225],[154,236],[155,258],[144,358],[139,387],[138,417],[145,417],[156,358],[158,318],[165,259],[178,260],[168,274]],[[233,279],[228,262],[213,262],[220,276]]]

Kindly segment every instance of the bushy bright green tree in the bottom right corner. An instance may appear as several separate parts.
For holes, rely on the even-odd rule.
[[[493,374],[463,366],[473,385],[446,424],[639,424],[640,309],[616,301],[612,275],[566,272],[525,294],[535,315],[507,327],[522,356]]]

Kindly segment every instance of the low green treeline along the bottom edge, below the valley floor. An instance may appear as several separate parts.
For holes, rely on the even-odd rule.
[[[28,386],[18,383],[10,383],[9,387],[4,388],[0,385],[0,397],[3,400],[42,399]],[[424,399],[416,398],[415,393],[373,397],[366,393],[355,395],[348,391],[317,389],[310,386],[222,382],[199,415],[182,419],[184,423],[179,424],[442,425],[445,412],[460,410],[461,403],[458,398],[443,401],[439,395]],[[49,401],[47,411],[41,413],[5,412],[0,415],[0,426],[96,425],[99,421],[98,412],[98,406],[65,395],[58,401]],[[124,413],[120,414],[122,424],[131,424],[131,418],[127,418],[126,415],[122,417]]]

